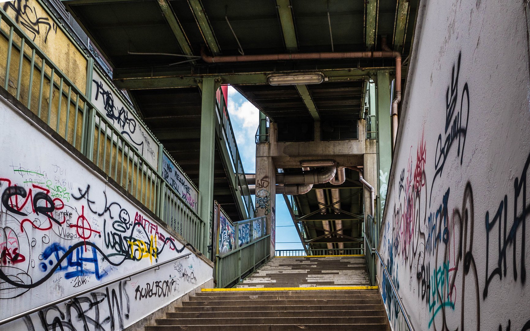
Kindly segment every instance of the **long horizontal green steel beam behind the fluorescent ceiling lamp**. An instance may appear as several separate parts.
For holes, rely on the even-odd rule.
[[[388,68],[384,68],[387,70]],[[377,68],[375,68],[377,70]],[[348,82],[369,79],[370,72],[374,68],[347,68],[347,69],[325,69],[320,70],[328,79],[328,82]],[[301,72],[301,71],[297,71]],[[314,69],[306,72],[315,72]],[[229,85],[254,85],[268,84],[267,76],[279,72],[260,72],[260,73],[217,73],[217,74],[183,74],[183,75],[158,75],[151,76],[151,73],[142,71],[119,71],[114,74],[114,84],[119,89],[127,90],[146,90],[146,89],[168,89],[168,88],[187,88],[198,86],[201,79],[208,77],[220,77],[223,84]],[[145,76],[143,76],[145,75]],[[325,84],[325,83],[324,83]],[[303,86],[303,85],[297,85]]]

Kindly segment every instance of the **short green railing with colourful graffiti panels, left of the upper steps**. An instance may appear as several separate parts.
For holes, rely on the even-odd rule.
[[[228,220],[228,222],[230,222]],[[261,222],[261,237],[254,238],[254,222]],[[230,222],[232,223],[232,222]],[[232,224],[235,229],[235,246],[225,253],[216,255],[216,281],[218,288],[232,287],[239,283],[246,274],[266,262],[270,256],[270,234],[266,233],[266,216],[255,217]],[[240,245],[239,233],[243,227],[250,227],[249,240]],[[220,237],[220,236],[218,236]],[[217,239],[217,248],[219,238]]]

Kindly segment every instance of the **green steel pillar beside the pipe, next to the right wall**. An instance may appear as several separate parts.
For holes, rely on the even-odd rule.
[[[390,165],[392,163],[391,91],[390,73],[377,72],[377,216],[383,217]],[[373,184],[372,184],[373,185]]]

